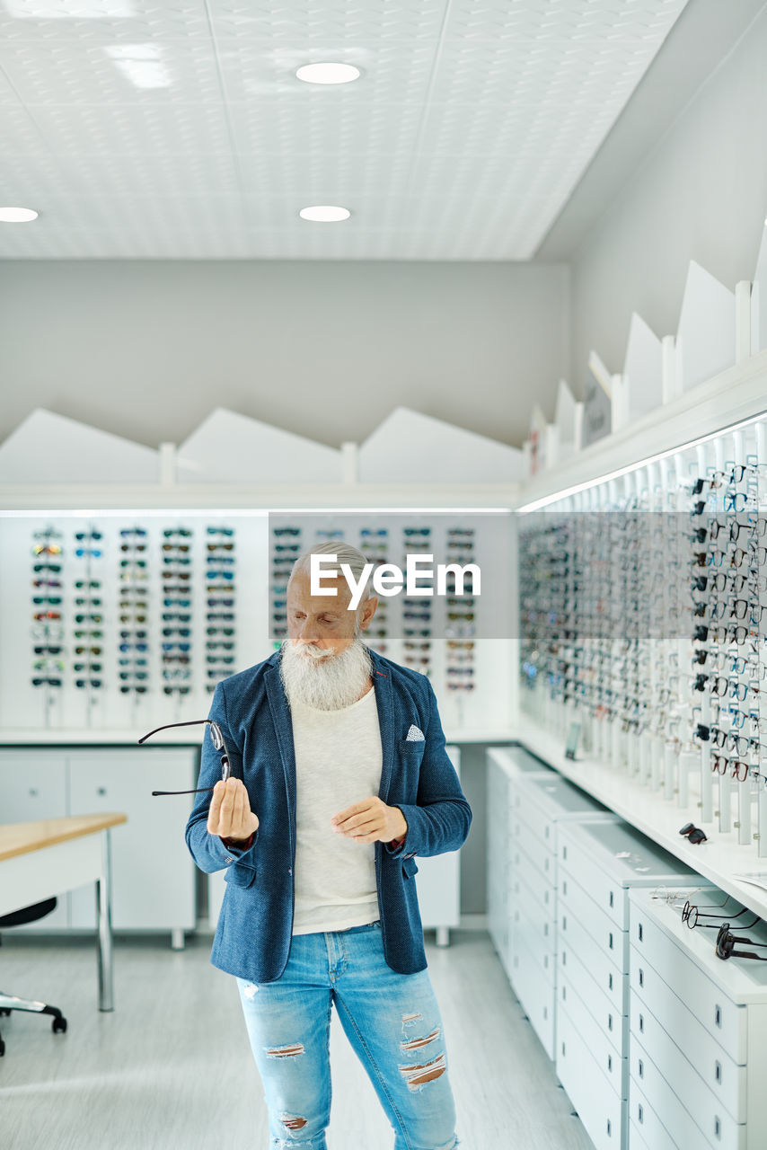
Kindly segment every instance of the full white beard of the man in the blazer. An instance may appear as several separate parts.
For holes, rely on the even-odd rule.
[[[294,646],[290,639],[281,652],[279,677],[290,705],[340,711],[356,703],[370,685],[373,660],[359,634],[340,654],[328,654],[314,645]]]

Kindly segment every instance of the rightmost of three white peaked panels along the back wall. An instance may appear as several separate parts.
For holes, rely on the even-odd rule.
[[[516,483],[522,452],[444,420],[396,407],[360,446],[360,483]]]

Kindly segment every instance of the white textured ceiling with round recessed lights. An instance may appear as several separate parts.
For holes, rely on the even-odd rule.
[[[0,258],[529,259],[685,3],[0,0]]]

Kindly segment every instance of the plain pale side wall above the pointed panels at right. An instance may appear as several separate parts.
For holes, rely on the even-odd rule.
[[[767,216],[767,8],[628,179],[573,256],[569,377],[620,371],[631,312],[676,332],[690,260],[753,277]]]

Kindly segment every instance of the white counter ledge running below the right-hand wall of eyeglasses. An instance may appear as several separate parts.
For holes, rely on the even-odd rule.
[[[706,826],[704,829],[708,841],[693,845],[680,835],[680,827],[687,822],[699,822],[700,812],[697,806],[676,806],[674,802],[636,783],[627,770],[588,758],[567,759],[562,737],[552,735],[530,719],[520,720],[516,737],[532,754],[599,799],[615,814],[654,839],[659,846],[682,859],[761,918],[767,918],[767,890],[734,877],[745,871],[767,872],[764,859],[757,859],[753,850],[744,850],[738,844],[737,831],[719,834]]]

